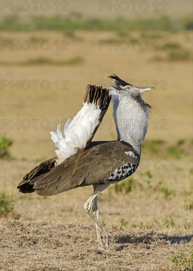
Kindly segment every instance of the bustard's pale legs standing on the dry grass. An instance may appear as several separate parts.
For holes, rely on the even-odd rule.
[[[104,238],[104,242],[105,242],[105,249],[107,249],[109,246],[109,237],[108,237],[108,233],[105,231],[105,229],[102,227],[102,225],[98,221],[99,210],[97,207],[97,195],[102,190],[107,188],[108,186],[109,186],[109,184],[96,185],[94,187],[94,189],[95,189],[94,193],[88,199],[88,201],[84,204],[84,208],[85,208],[86,212],[91,216],[91,218],[96,223],[96,233],[97,233],[97,238],[98,238],[98,246],[99,246],[99,248],[103,248],[102,247],[102,240],[101,240],[101,236],[102,236]],[[94,201],[96,201],[96,202],[94,202]]]

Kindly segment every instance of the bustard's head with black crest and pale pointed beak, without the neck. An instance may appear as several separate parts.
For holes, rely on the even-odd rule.
[[[115,82],[112,83],[112,87],[109,89],[110,95],[117,96],[119,100],[129,97],[138,102],[142,107],[151,108],[151,105],[144,102],[141,96],[144,92],[154,89],[154,87],[136,87],[125,82],[115,74],[110,75],[109,78],[115,80]]]

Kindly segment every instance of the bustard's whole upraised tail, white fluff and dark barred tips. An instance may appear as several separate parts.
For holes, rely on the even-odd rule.
[[[90,144],[110,100],[107,89],[95,85],[87,86],[83,106],[72,120],[69,119],[66,122],[64,133],[60,125],[56,133],[50,132],[51,139],[57,148],[56,165]]]

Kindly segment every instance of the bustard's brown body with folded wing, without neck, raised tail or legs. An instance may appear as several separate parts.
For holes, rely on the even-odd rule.
[[[139,163],[139,156],[133,148],[120,140],[94,141],[88,149],[66,158],[57,167],[54,166],[55,159],[41,163],[38,169],[32,169],[24,177],[24,180],[28,180],[27,185],[21,185],[20,191],[36,191],[41,196],[53,196],[81,186],[110,184],[131,175]],[[43,173],[42,170],[47,167],[50,170]],[[41,174],[35,177],[37,171]]]

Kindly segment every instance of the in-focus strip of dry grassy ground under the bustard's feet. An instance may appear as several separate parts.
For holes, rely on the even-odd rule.
[[[94,226],[1,220],[4,271],[191,271],[192,232],[108,226],[110,251],[97,250]],[[184,257],[180,255],[184,251]],[[177,257],[179,256],[179,257]]]

